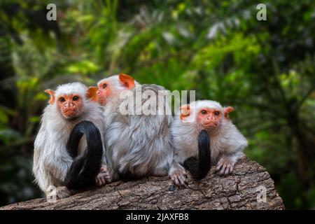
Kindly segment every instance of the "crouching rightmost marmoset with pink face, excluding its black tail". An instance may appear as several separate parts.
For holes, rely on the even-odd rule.
[[[186,159],[197,157],[198,137],[205,130],[211,139],[211,163],[216,165],[219,174],[230,174],[237,160],[244,156],[244,148],[248,145],[246,138],[229,118],[232,111],[232,106],[223,107],[211,100],[181,106],[181,113],[171,127],[174,160],[183,164]]]

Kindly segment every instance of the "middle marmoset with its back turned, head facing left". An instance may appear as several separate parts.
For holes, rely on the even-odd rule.
[[[130,99],[137,98],[137,91],[141,94],[150,91],[158,102],[158,92],[165,88],[154,84],[139,85],[132,76],[123,73],[104,78],[97,86],[98,101],[104,107],[104,139],[111,168],[104,172],[106,181],[137,179],[149,175],[172,176],[172,172],[177,169],[172,166],[173,148],[169,127],[173,118],[167,102],[155,105],[156,111],[159,108],[167,111],[161,115],[123,114],[120,111],[126,98],[129,102]],[[125,92],[130,94],[121,99]],[[134,109],[138,103],[144,106],[149,98],[140,100],[141,102],[137,102],[137,99],[132,101],[130,106]]]

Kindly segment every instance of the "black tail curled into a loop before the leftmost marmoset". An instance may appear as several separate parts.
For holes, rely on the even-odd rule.
[[[87,148],[78,155],[78,144],[83,134]],[[87,120],[76,124],[70,134],[67,151],[74,160],[66,174],[65,186],[71,190],[94,186],[103,155],[102,137],[98,128]]]

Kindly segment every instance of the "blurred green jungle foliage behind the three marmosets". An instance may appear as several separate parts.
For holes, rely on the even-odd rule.
[[[122,72],[235,106],[246,155],[286,208],[315,209],[314,41],[313,0],[1,0],[0,205],[42,196],[31,167],[43,90]]]

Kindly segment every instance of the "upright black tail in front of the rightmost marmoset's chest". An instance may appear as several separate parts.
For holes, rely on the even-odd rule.
[[[207,176],[211,168],[210,136],[202,130],[198,137],[198,159],[190,157],[183,162],[194,179],[201,180]]]

